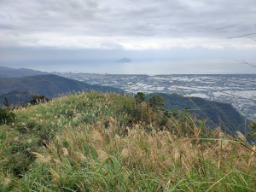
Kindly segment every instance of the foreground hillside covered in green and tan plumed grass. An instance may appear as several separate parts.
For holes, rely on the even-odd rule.
[[[186,113],[79,93],[0,126],[0,191],[255,191],[255,147]]]

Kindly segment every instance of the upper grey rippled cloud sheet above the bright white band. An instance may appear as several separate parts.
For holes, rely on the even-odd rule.
[[[255,10],[251,0],[2,0],[0,27],[20,37],[227,38],[255,32]]]

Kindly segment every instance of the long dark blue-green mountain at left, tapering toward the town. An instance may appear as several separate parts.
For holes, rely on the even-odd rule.
[[[73,79],[62,78],[57,75],[36,75],[17,79],[0,79],[0,95],[12,90],[31,90],[38,95],[52,98],[58,94],[70,91],[100,90],[102,92],[120,92],[112,87],[85,84]]]

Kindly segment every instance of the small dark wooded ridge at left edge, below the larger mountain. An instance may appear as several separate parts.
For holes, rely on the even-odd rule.
[[[37,94],[31,90],[13,90],[0,96],[0,107],[3,107],[5,96],[8,98],[9,104],[22,105],[24,103],[30,102],[32,97],[36,95]]]

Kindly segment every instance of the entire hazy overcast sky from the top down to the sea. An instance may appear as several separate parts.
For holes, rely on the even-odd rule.
[[[0,0],[0,66],[256,65],[256,35],[229,38],[256,32],[255,13],[255,0]]]

